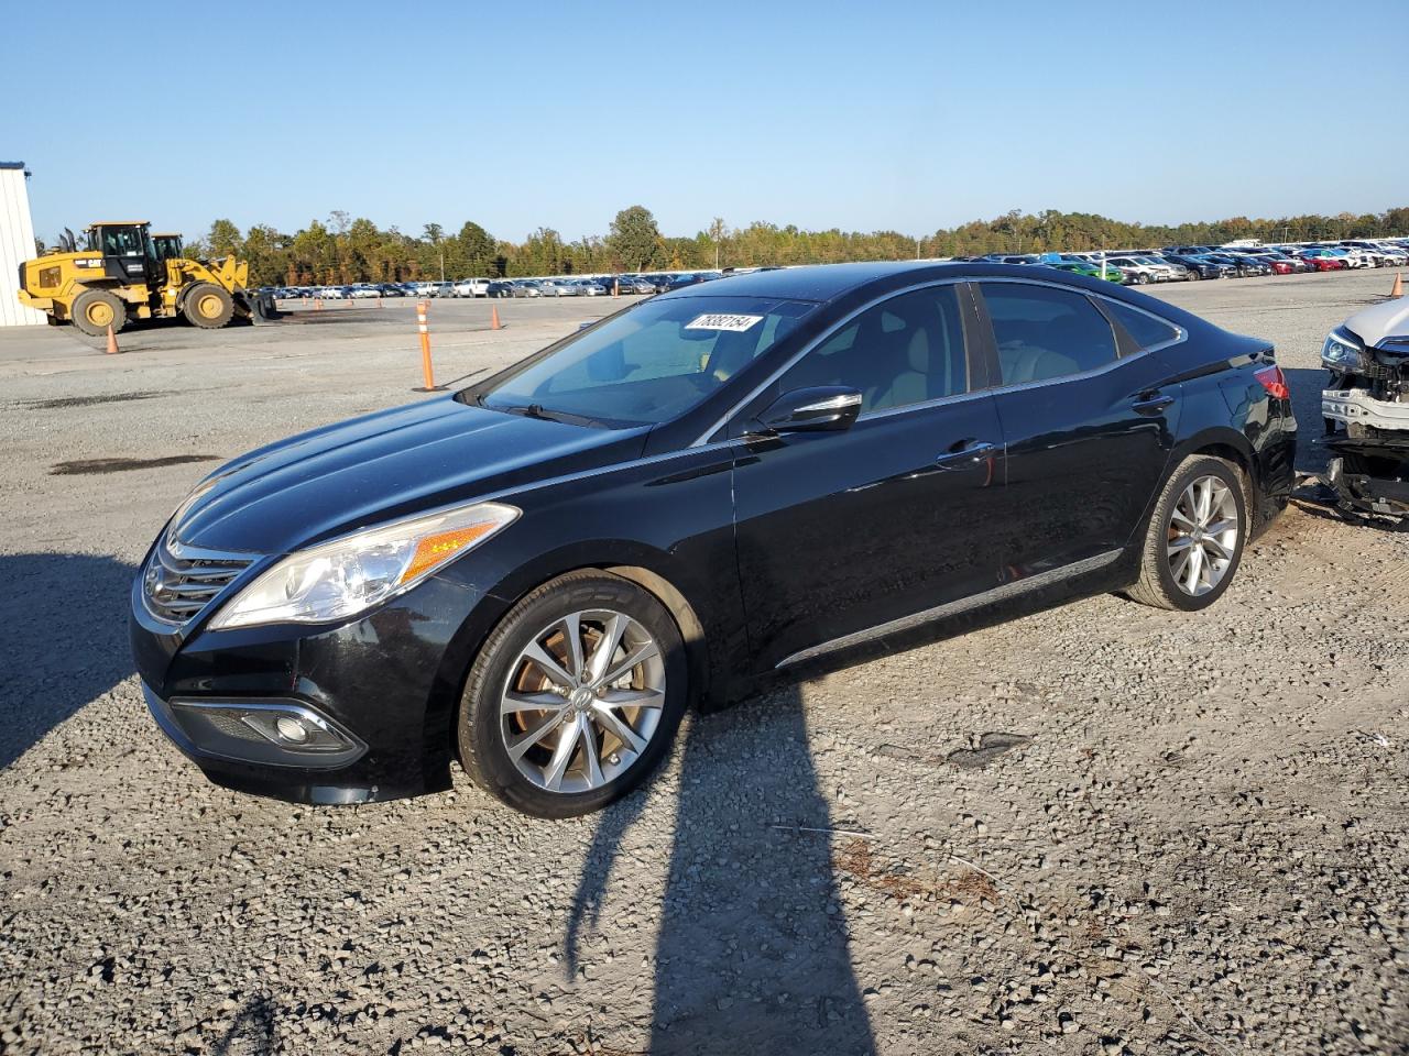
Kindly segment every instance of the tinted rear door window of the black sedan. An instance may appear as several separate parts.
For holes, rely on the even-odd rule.
[[[1024,283],[982,289],[1002,384],[1079,375],[1115,362],[1110,324],[1084,294]]]

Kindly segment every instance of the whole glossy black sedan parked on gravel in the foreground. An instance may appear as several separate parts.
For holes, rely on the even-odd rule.
[[[1268,342],[1110,283],[721,279],[217,470],[144,560],[132,648],[221,784],[359,803],[458,759],[581,814],[779,672],[1098,591],[1212,604],[1293,429]]]

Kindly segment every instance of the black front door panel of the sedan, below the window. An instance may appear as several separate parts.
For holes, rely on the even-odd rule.
[[[998,584],[1003,452],[991,396],[735,449],[738,567],[761,667]]]

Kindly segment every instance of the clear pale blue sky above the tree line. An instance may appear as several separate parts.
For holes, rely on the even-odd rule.
[[[1409,204],[1406,0],[79,3],[6,14],[0,158],[41,237],[331,210],[927,234]],[[144,103],[144,100],[147,100]]]

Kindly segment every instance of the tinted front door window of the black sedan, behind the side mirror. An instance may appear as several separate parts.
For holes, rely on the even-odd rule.
[[[957,396],[968,389],[964,325],[952,286],[933,286],[868,308],[797,360],[781,391],[843,384],[861,411]]]

